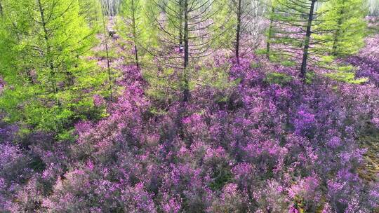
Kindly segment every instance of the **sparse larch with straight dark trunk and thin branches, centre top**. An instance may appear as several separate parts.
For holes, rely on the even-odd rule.
[[[154,18],[159,29],[159,49],[153,54],[167,67],[182,70],[182,102],[189,100],[189,67],[209,55],[220,25],[213,21],[218,12],[215,0],[154,0],[161,13]]]

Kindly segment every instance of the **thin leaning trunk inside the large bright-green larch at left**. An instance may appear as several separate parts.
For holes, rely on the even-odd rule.
[[[44,39],[46,42],[46,66],[50,69],[50,77],[51,77],[51,87],[53,88],[53,93],[55,95],[55,102],[60,105],[57,93],[57,82],[56,82],[56,76],[55,76],[55,68],[53,60],[51,59],[51,46],[50,41],[48,38],[48,30],[46,28],[46,21],[45,21],[45,14],[44,14],[44,8],[42,7],[41,0],[37,0],[38,6],[39,6],[39,15],[41,15],[41,26],[44,29]]]

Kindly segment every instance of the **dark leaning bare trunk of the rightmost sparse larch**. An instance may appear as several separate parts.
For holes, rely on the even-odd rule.
[[[310,13],[308,14],[307,32],[305,34],[305,45],[302,51],[302,64],[300,69],[300,78],[305,81],[305,72],[307,71],[308,51],[310,49],[310,36],[312,34],[312,21],[314,15],[314,5],[317,0],[311,1]]]

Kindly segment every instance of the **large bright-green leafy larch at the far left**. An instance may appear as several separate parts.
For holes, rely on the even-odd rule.
[[[6,0],[4,11],[0,40],[9,49],[0,54],[13,65],[0,65],[12,85],[1,96],[1,108],[13,111],[10,121],[64,132],[72,119],[91,111],[91,95],[104,81],[84,58],[96,43],[95,31],[77,0]]]

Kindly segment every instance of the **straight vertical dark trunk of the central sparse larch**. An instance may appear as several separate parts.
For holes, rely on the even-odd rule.
[[[188,102],[189,99],[189,80],[187,75],[187,68],[189,62],[189,35],[188,35],[188,0],[184,0],[184,43],[185,43],[185,55],[184,55],[184,90],[183,90],[183,102]]]

